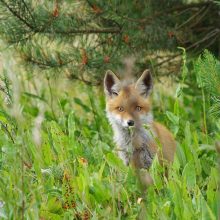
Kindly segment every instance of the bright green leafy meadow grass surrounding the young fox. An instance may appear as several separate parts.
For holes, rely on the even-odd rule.
[[[220,119],[197,78],[201,60],[183,62],[180,81],[155,79],[154,118],[177,152],[168,178],[155,158],[146,195],[114,150],[101,86],[2,63],[0,219],[218,219]]]

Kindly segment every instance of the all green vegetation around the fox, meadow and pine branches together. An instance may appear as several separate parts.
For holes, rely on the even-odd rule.
[[[218,219],[219,16],[212,0],[0,0],[0,219]],[[152,70],[177,141],[146,194],[112,140],[109,68]]]

